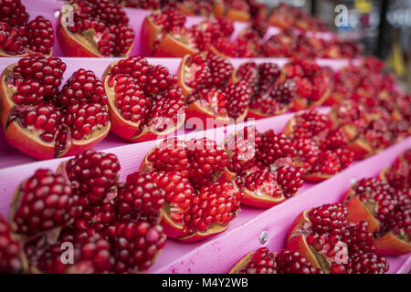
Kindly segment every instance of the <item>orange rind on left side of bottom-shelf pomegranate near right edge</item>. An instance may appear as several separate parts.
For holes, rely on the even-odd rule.
[[[360,198],[353,195],[353,190],[349,190],[342,198],[342,203],[347,207],[347,219],[350,223],[368,222],[367,231],[374,233],[380,226],[380,222],[374,215],[365,207]]]

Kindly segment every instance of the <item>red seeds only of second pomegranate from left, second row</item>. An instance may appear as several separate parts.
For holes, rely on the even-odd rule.
[[[147,128],[166,130],[183,115],[183,92],[167,68],[150,65],[143,57],[129,57],[119,61],[109,74],[106,78],[114,90],[115,110],[135,125],[134,136]]]

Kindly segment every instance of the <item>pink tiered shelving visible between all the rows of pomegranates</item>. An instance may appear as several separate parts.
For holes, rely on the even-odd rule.
[[[23,0],[30,16],[46,16],[48,19],[56,20],[57,12],[63,2],[61,1],[29,1]],[[142,20],[150,12],[138,9],[126,9],[131,18],[132,26],[136,32],[135,45],[132,55],[141,52],[140,34]],[[198,23],[202,17],[188,17],[188,25]],[[238,33],[245,24],[236,23]],[[278,28],[271,27],[269,34],[278,33]],[[324,34],[320,37],[332,37]],[[54,56],[63,56],[58,42],[54,47]],[[65,78],[79,68],[93,70],[97,76],[115,58],[68,58],[62,57],[68,65]],[[16,62],[16,58],[0,58],[0,70]],[[235,67],[238,67],[245,59],[232,59]],[[279,66],[284,65],[287,59],[258,58],[256,62],[274,62]],[[180,64],[179,58],[149,58],[152,64],[161,64],[169,68],[171,73],[176,73]],[[318,60],[321,66],[330,66],[333,69],[342,68],[349,64],[348,60]],[[322,112],[328,112],[329,108],[321,108]],[[277,117],[258,120],[256,127],[259,131],[277,130],[281,131],[294,113],[286,113]],[[177,130],[175,133],[180,139],[193,137],[208,137],[221,143],[227,134],[240,130],[244,124],[231,125],[227,128],[216,130],[192,131]],[[142,143],[130,143],[110,134],[104,141],[95,147],[97,151],[111,152],[118,156],[121,162],[121,181],[125,177],[136,172],[144,155],[150,151],[158,141],[147,141]],[[354,162],[347,170],[332,177],[323,183],[305,183],[300,193],[290,200],[280,203],[270,209],[256,209],[242,206],[241,212],[232,222],[227,231],[221,235],[205,241],[195,243],[181,243],[168,239],[159,255],[156,263],[149,269],[149,273],[227,273],[237,260],[248,252],[260,247],[260,235],[267,232],[268,241],[264,244],[270,250],[279,250],[285,247],[285,236],[292,220],[303,210],[321,205],[323,203],[339,202],[342,195],[347,191],[353,180],[377,175],[386,165],[394,162],[395,158],[406,149],[411,148],[411,138],[406,139],[385,151],[368,158],[362,162]],[[68,160],[61,158],[38,162],[26,155],[14,150],[6,144],[3,132],[0,132],[0,214],[8,215],[10,202],[18,183],[30,176],[38,168],[49,168],[56,170],[58,164]],[[388,257],[390,264],[389,273],[407,273],[411,269],[411,255]]]

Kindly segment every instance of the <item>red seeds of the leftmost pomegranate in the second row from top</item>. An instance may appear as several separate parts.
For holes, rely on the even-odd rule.
[[[54,144],[56,155],[73,141],[92,140],[94,131],[109,125],[108,99],[100,79],[81,68],[59,89],[65,70],[58,57],[26,57],[6,77],[16,89],[10,99],[17,107],[5,127],[17,121],[40,140]]]

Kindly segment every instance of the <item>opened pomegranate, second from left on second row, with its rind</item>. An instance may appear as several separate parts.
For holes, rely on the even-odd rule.
[[[113,62],[104,72],[111,130],[128,141],[149,141],[181,127],[183,91],[168,69],[143,57]]]

